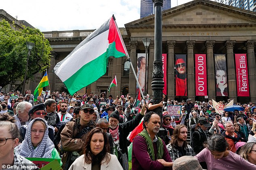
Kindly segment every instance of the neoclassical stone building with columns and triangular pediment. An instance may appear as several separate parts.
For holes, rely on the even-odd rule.
[[[118,16],[116,16],[118,22]],[[151,81],[154,60],[154,15],[127,23],[120,28],[130,59],[136,70],[137,53],[145,53],[143,38],[152,40],[149,46],[148,60],[148,94],[152,96]],[[53,48],[52,61],[48,70],[50,88],[55,91],[65,90],[64,84],[52,72],[53,67],[65,58],[78,43],[93,30],[52,31],[45,32],[45,37]],[[162,12],[162,53],[167,53],[167,94],[172,100],[206,101],[210,99],[234,99],[234,102],[256,102],[256,13],[209,0],[194,0]],[[214,54],[226,55],[228,96],[216,96]],[[235,54],[246,53],[250,97],[237,97]],[[187,96],[175,96],[174,57],[175,54],[187,55]],[[195,54],[206,54],[207,94],[195,96]],[[86,87],[84,92],[99,94],[117,76],[118,86],[111,88],[110,94],[120,96],[129,92],[136,96],[136,81],[127,66],[125,57],[110,58],[107,73],[96,82]],[[75,69],[75,68],[74,68]],[[95,72],[97,66],[95,66]],[[93,76],[93,75],[88,75]],[[40,82],[42,74],[26,88],[34,89]],[[76,83],[76,82],[74,82]]]

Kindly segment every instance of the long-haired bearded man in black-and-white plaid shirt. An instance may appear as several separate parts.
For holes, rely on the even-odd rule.
[[[177,125],[174,128],[172,140],[166,146],[172,161],[182,156],[194,156],[193,149],[187,144],[187,127]]]

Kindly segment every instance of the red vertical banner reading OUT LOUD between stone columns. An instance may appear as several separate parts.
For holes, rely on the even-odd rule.
[[[195,54],[195,95],[207,96],[206,54]]]

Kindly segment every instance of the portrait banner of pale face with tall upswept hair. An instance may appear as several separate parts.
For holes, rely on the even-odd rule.
[[[225,54],[214,54],[216,96],[228,96],[227,66]]]

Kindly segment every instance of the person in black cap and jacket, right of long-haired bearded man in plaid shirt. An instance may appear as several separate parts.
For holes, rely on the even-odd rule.
[[[208,128],[210,128],[209,131]],[[191,138],[191,145],[195,154],[198,154],[205,148],[204,143],[208,141],[210,135],[214,134],[214,128],[216,128],[217,133],[220,132],[218,121],[214,121],[211,126],[205,117],[200,117],[198,119],[195,131],[192,133]]]

